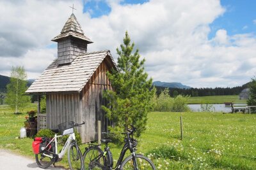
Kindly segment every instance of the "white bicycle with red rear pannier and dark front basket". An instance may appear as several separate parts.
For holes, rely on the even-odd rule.
[[[55,133],[54,138],[35,138],[33,141],[33,152],[35,153],[36,163],[39,167],[46,169],[60,162],[68,151],[68,165],[70,169],[83,169],[83,156],[77,145],[74,127],[83,125],[74,122],[65,122],[58,125],[58,129],[51,129]],[[60,132],[61,135],[57,135]],[[68,139],[60,153],[58,153],[57,138],[67,135]]]

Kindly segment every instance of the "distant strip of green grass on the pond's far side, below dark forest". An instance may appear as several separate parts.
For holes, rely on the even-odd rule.
[[[188,104],[223,104],[225,102],[246,103],[246,100],[239,100],[239,96],[203,96],[203,97],[189,97]]]

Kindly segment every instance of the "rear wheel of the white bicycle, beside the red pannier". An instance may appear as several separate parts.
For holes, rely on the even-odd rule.
[[[55,148],[54,148],[54,144],[51,143],[48,148],[46,148],[44,150],[44,152],[42,153],[38,153],[35,155],[36,158],[36,164],[38,164],[39,167],[46,169],[47,167],[51,166],[53,160],[54,160],[54,155],[52,154],[52,152],[54,153]],[[51,157],[47,157],[46,155],[49,155]]]

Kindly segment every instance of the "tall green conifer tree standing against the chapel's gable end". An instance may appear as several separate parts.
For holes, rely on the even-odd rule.
[[[104,97],[108,99],[108,106],[102,108],[108,118],[115,124],[111,131],[124,131],[129,125],[138,128],[137,135],[145,131],[147,113],[152,109],[150,99],[154,95],[152,79],[145,73],[145,59],[140,60],[139,50],[133,54],[134,43],[125,32],[124,44],[118,54],[117,70],[108,73],[108,78],[114,91],[107,90]]]

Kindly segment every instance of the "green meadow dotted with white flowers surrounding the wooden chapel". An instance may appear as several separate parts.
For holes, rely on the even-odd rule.
[[[33,139],[17,138],[26,111],[35,108],[31,104],[21,115],[14,115],[8,106],[0,106],[0,148],[35,157]],[[147,131],[138,138],[137,152],[150,157],[157,169],[255,169],[255,121],[253,114],[151,112]],[[122,146],[111,143],[110,147],[116,161]],[[56,165],[68,167],[67,159]]]

